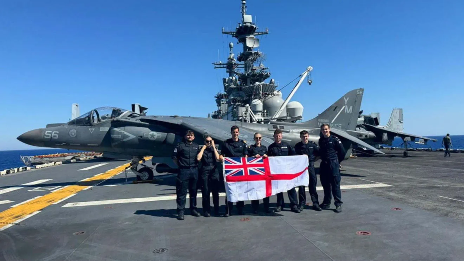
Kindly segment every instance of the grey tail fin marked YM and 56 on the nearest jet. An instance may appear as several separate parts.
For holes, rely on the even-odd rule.
[[[327,123],[330,128],[355,130],[363,93],[364,89],[362,88],[348,91],[324,112],[309,121],[303,122],[302,125],[319,128],[322,124]]]

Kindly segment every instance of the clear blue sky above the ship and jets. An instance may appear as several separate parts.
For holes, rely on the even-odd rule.
[[[405,131],[463,134],[464,1],[248,0],[260,51],[284,86],[311,65],[293,100],[303,117],[364,88],[361,109],[404,109]],[[0,150],[16,137],[100,106],[140,103],[150,115],[206,117],[216,109],[239,0],[2,1]],[[234,52],[240,48],[235,45]],[[284,89],[284,96],[291,91]]]

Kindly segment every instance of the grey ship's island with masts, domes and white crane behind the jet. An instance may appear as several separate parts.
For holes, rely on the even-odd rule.
[[[223,78],[224,92],[216,94],[218,110],[212,114],[213,118],[236,120],[242,122],[267,123],[272,121],[295,122],[303,115],[303,105],[297,101],[290,101],[303,79],[312,67],[303,72],[302,78],[284,100],[282,92],[277,90],[276,81],[271,78],[269,68],[264,66],[264,53],[256,50],[259,47],[257,36],[268,34],[258,31],[253,23],[252,16],[246,14],[246,1],[242,0],[242,21],[238,23],[235,31],[222,29],[223,34],[231,35],[243,46],[235,59],[233,43],[229,43],[229,56],[227,62],[213,63],[214,68],[226,69],[227,78]],[[267,79],[269,81],[265,82]],[[309,84],[311,81],[308,81]]]

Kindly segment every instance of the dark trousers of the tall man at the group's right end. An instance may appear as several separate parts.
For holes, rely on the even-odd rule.
[[[342,191],[340,190],[342,177],[340,176],[340,163],[338,163],[338,159],[322,161],[319,169],[319,177],[324,188],[324,201],[322,203],[330,204],[333,195],[335,206],[342,205]]]

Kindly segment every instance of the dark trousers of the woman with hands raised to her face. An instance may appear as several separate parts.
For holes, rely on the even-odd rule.
[[[213,194],[214,209],[219,209],[219,174],[216,167],[201,169],[201,207],[211,212],[210,195]]]

